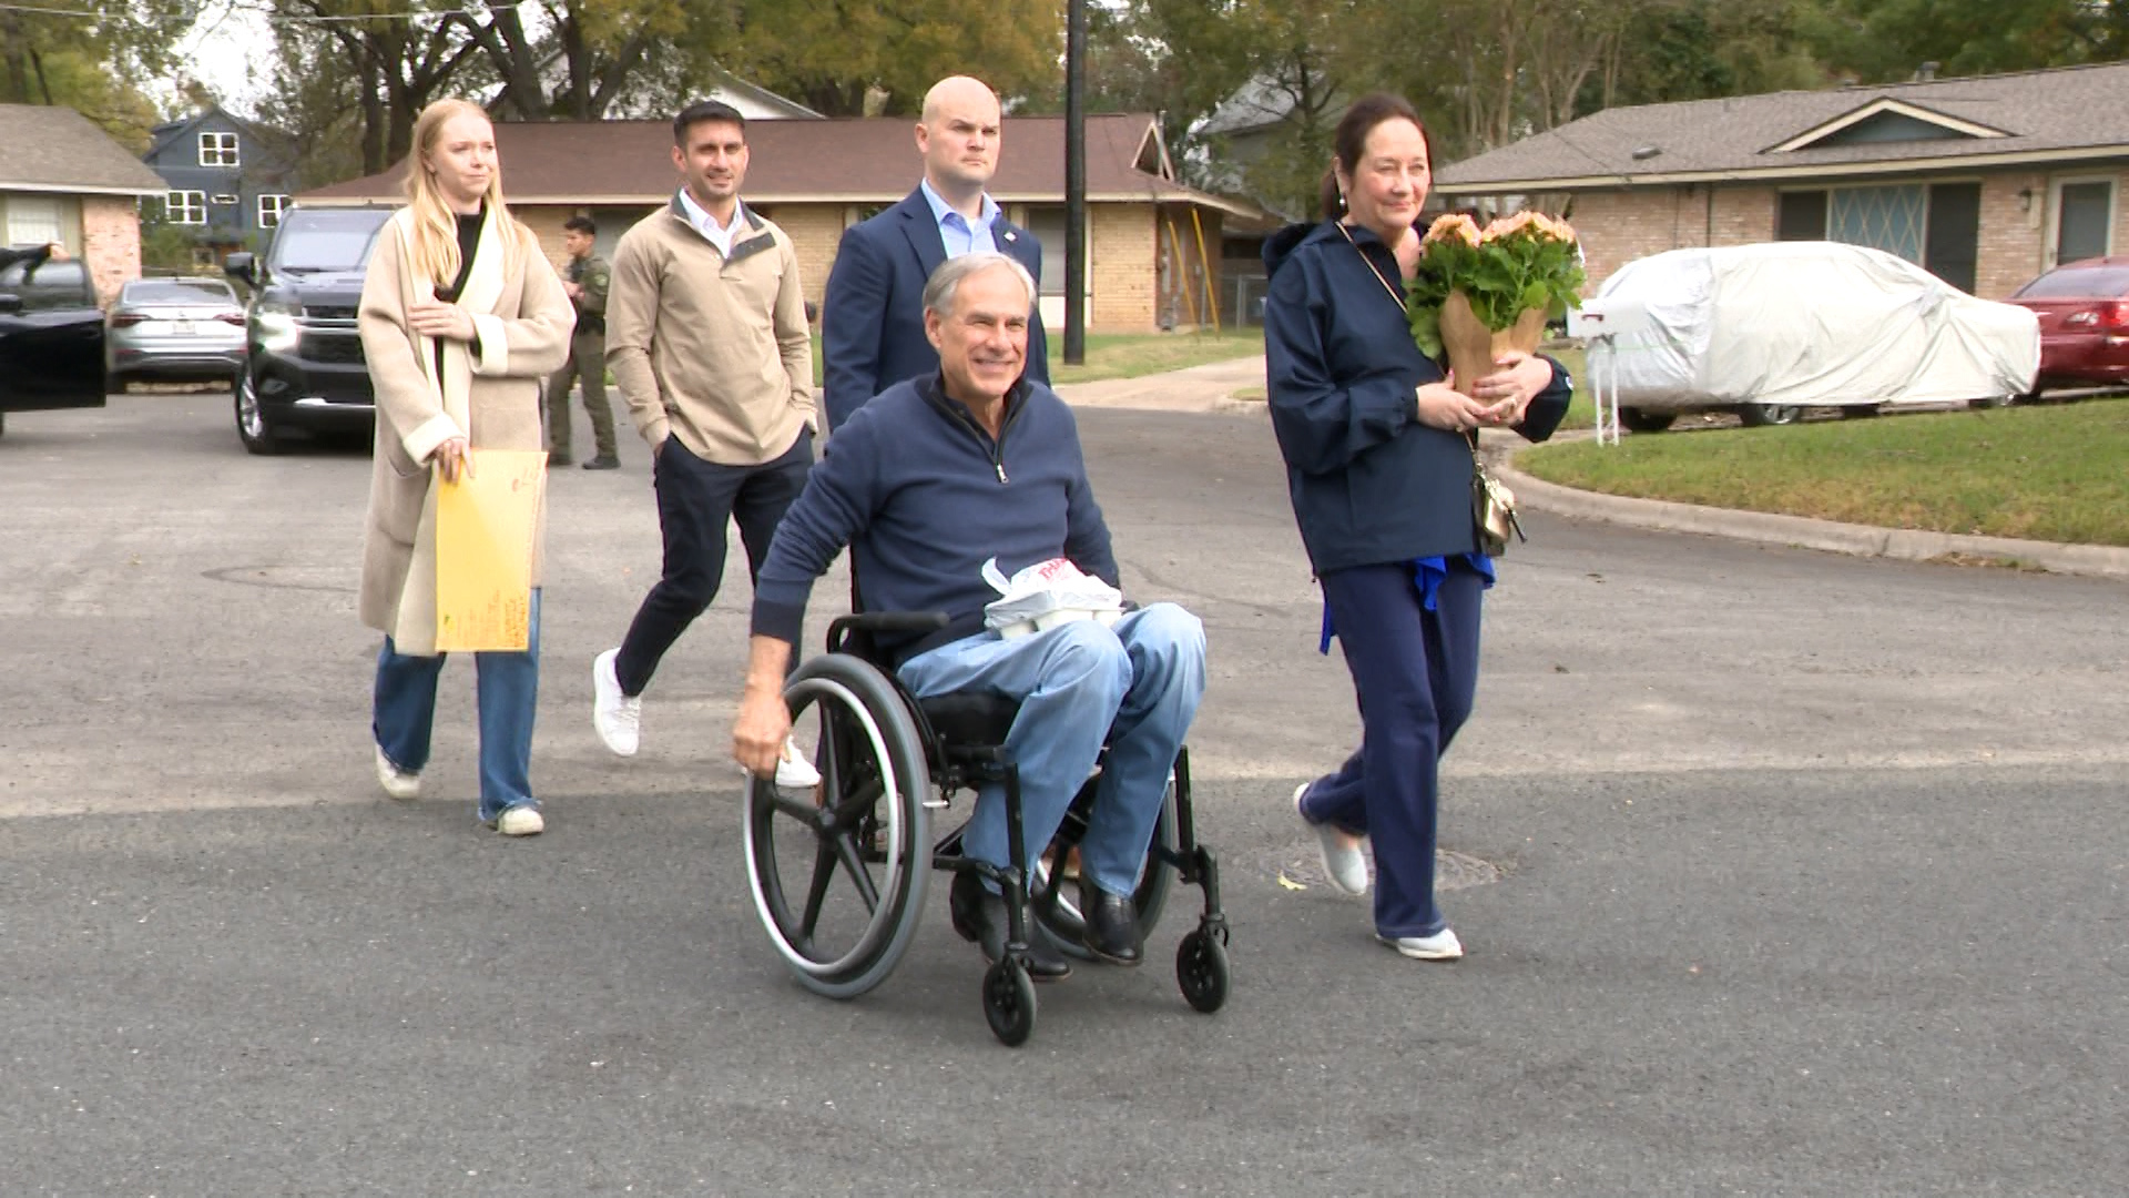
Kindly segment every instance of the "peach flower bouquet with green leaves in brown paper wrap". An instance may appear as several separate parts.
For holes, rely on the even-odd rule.
[[[1448,350],[1456,390],[1469,394],[1503,352],[1535,352],[1546,318],[1575,307],[1582,281],[1567,222],[1520,211],[1480,230],[1467,215],[1443,215],[1420,239],[1405,315],[1422,354]]]

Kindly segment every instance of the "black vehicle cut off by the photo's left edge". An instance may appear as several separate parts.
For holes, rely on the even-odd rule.
[[[104,313],[79,258],[0,266],[0,431],[9,411],[104,405]]]

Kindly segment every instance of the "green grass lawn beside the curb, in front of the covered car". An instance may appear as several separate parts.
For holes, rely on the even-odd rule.
[[[1535,477],[1607,495],[2097,546],[2129,546],[2125,465],[2123,396],[1629,435],[1516,456]]]

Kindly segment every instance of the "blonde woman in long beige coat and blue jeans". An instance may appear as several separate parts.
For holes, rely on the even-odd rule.
[[[502,205],[496,132],[464,100],[413,126],[407,207],[377,237],[362,281],[362,354],[377,388],[377,454],[362,541],[362,622],[385,633],[373,725],[377,780],[422,791],[436,714],[436,495],[479,450],[541,448],[541,379],[568,356],[568,296],[539,241]],[[541,514],[545,533],[545,514]],[[537,836],[539,539],[524,652],[479,652],[481,821]]]

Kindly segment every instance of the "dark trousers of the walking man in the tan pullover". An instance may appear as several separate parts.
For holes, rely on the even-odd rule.
[[[613,676],[624,695],[641,695],[649,686],[658,661],[717,597],[717,584],[724,582],[724,535],[732,520],[739,522],[739,539],[747,550],[747,580],[760,578],[769,539],[775,537],[783,509],[805,490],[809,469],[813,433],[805,431],[783,456],[758,467],[705,463],[679,437],[666,437],[651,463],[664,573],[643,597],[622,652],[613,659]]]

